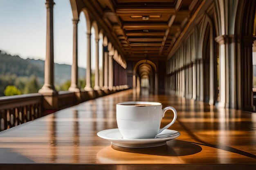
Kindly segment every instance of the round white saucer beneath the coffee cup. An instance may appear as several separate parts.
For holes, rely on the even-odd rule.
[[[98,132],[97,135],[103,139],[111,141],[111,144],[115,146],[125,148],[151,148],[156,146],[163,146],[166,144],[166,141],[170,141],[180,136],[180,132],[177,132],[175,130],[166,129],[163,132],[168,134],[173,133],[173,135],[153,139],[124,139],[119,132],[119,129],[102,130]]]

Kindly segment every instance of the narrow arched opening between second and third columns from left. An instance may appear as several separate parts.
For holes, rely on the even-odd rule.
[[[88,29],[89,28],[89,29]],[[83,9],[79,15],[77,26],[77,43],[78,43],[78,86],[83,89],[85,87],[85,74],[87,69],[88,57],[88,36],[90,35],[90,18],[86,9]],[[89,56],[90,57],[90,56]]]

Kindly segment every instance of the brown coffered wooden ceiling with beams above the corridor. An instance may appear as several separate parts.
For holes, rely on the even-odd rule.
[[[166,57],[201,0],[97,0],[126,53]]]

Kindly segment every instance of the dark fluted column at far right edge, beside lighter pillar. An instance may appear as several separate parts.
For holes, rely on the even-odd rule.
[[[256,2],[245,0],[238,4],[243,15],[237,15],[236,34],[241,35],[240,41],[240,67],[238,72],[238,108],[255,111],[256,93],[254,92],[254,50],[256,40]]]

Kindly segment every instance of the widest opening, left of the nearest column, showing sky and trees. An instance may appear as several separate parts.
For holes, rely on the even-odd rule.
[[[37,93],[44,84],[45,2],[30,5],[0,2],[0,96]]]

